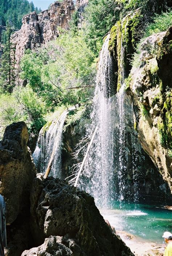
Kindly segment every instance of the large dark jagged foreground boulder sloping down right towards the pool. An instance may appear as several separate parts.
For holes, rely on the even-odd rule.
[[[133,255],[122,240],[112,233],[95,206],[94,198],[60,179],[34,179],[31,218],[36,245],[54,236],[51,244],[58,247],[59,238],[55,236],[61,236],[60,243],[70,248],[71,255]],[[66,234],[70,243],[65,242]],[[47,243],[48,240],[45,240],[42,246],[46,247]]]

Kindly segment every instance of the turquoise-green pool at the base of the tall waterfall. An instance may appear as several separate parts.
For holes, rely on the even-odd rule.
[[[165,231],[172,233],[172,210],[161,206],[150,205],[118,205],[111,210],[101,210],[103,217],[116,230],[139,236],[144,240],[162,244]]]

